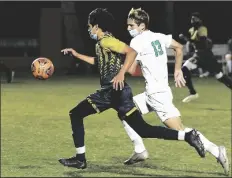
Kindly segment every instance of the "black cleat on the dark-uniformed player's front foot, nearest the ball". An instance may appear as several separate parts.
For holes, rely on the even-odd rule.
[[[61,158],[59,159],[59,162],[67,167],[74,167],[77,169],[85,169],[87,167],[86,160],[80,161],[76,158],[76,156],[73,156],[71,158]]]

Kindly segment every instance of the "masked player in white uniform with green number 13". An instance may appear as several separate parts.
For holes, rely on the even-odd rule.
[[[149,15],[142,10],[133,9],[129,12],[127,25],[130,35],[133,37],[130,46],[138,53],[136,61],[129,69],[129,73],[134,75],[140,70],[145,78],[146,90],[144,93],[134,96],[134,102],[142,114],[154,111],[165,126],[189,131],[181,122],[181,114],[174,106],[172,91],[168,84],[167,53],[166,48],[174,49],[175,52],[175,85],[185,86],[185,80],[181,70],[183,51],[182,45],[172,39],[172,35],[154,33],[148,30]],[[131,134],[131,133],[130,133]],[[130,136],[128,133],[128,135]],[[224,168],[225,174],[229,173],[229,161],[224,146],[217,146],[198,132],[205,150],[210,152]],[[131,134],[131,140],[135,147],[140,144],[143,150],[136,152],[127,160],[125,164],[133,164],[136,160],[145,160],[148,157],[141,138]],[[136,142],[137,140],[140,140]],[[136,143],[136,144],[135,144]]]

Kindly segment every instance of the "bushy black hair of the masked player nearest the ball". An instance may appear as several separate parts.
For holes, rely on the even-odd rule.
[[[103,32],[112,32],[114,27],[114,17],[107,9],[97,8],[90,12],[88,17],[89,23],[94,26],[98,25]]]

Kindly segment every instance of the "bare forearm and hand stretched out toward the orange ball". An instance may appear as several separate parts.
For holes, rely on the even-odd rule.
[[[91,56],[86,56],[86,55],[83,55],[83,54],[80,54],[78,52],[76,52],[74,49],[72,48],[66,48],[66,49],[63,49],[61,50],[62,53],[64,53],[64,55],[72,55],[74,56],[75,58],[78,58],[82,61],[85,61],[89,64],[94,64],[95,63],[95,59],[94,57],[91,57]]]

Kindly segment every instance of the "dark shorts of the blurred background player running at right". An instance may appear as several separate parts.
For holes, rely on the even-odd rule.
[[[190,58],[190,60],[198,67],[207,70],[212,74],[221,72],[222,65],[217,62],[217,59],[211,50],[197,52]]]

